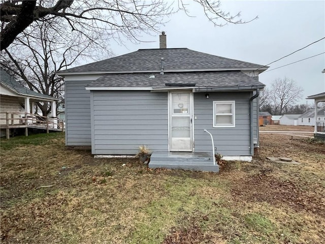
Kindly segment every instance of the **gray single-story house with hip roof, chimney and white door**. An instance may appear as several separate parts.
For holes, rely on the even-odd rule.
[[[163,43],[61,71],[66,145],[91,146],[93,155],[135,155],[144,144],[153,151],[150,164],[158,151],[211,158],[207,130],[224,159],[250,160],[265,86],[258,74],[267,68]]]

